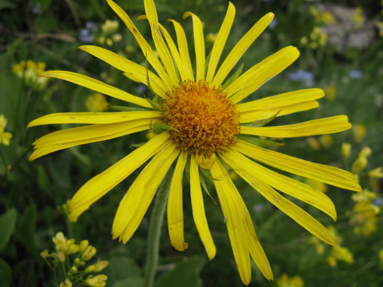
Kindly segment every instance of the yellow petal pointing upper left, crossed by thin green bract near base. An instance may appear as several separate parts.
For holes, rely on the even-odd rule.
[[[105,61],[109,65],[112,65],[113,67],[118,68],[123,72],[133,75],[133,77],[136,78],[140,83],[144,83],[145,85],[147,85],[146,67],[143,67],[137,63],[134,63],[124,57],[121,57],[118,54],[115,54],[101,47],[86,45],[80,46],[79,49],[88,52],[89,54]],[[165,98],[165,91],[168,91],[168,88],[165,85],[164,81],[161,80],[150,70],[148,70],[147,72],[149,76],[149,83],[155,91],[155,93],[157,93],[162,98]]]

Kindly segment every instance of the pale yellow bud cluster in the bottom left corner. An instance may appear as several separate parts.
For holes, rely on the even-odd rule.
[[[75,244],[74,238],[67,239],[62,232],[57,232],[52,240],[56,245],[56,252],[49,253],[48,250],[44,250],[40,255],[55,273],[58,263],[61,262],[65,279],[61,282],[60,287],[72,287],[73,282],[83,282],[90,287],[105,286],[107,277],[103,274],[97,276],[90,274],[86,279],[83,279],[85,275],[91,272],[102,271],[109,264],[108,261],[98,258],[96,263],[84,266],[97,252],[94,246],[89,245],[88,240],[82,240],[79,244]],[[75,253],[77,253],[77,257],[73,260],[73,264],[70,264],[69,255]],[[52,258],[51,263],[49,263],[48,258]],[[65,269],[64,261],[68,263],[68,270]],[[82,270],[79,270],[80,267]]]

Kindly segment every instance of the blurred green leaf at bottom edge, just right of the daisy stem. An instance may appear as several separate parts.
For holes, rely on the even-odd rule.
[[[206,256],[189,256],[183,261],[175,263],[175,269],[161,274],[154,283],[154,287],[201,287],[200,271],[206,263]]]

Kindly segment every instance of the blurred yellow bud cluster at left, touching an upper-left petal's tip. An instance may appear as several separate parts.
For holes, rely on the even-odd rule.
[[[44,62],[35,63],[32,60],[21,61],[20,63],[13,65],[13,72],[24,79],[25,84],[38,91],[43,90],[49,81],[47,77],[39,77],[39,75],[45,72],[46,64]]]

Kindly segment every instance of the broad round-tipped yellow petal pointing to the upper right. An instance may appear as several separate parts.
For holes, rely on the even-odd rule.
[[[234,103],[238,103],[242,99],[257,90],[268,80],[278,75],[280,72],[290,66],[299,56],[296,47],[289,46],[267,57],[257,65],[247,70],[243,75],[239,76],[224,91]],[[235,94],[235,95],[234,95]],[[233,95],[233,96],[232,96]]]

